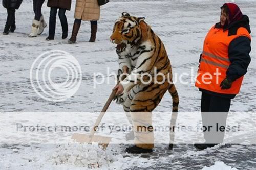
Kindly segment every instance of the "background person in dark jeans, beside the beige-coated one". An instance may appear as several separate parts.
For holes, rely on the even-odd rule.
[[[68,37],[68,21],[65,15],[66,10],[71,8],[71,0],[48,0],[48,7],[51,7],[49,18],[49,36],[46,40],[54,40],[55,27],[56,27],[56,14],[59,10],[59,20],[62,27],[62,39]]]

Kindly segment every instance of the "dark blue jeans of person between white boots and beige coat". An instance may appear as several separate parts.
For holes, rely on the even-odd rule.
[[[58,8],[51,7],[51,11],[50,11],[49,36],[53,36],[53,37],[55,35],[57,10]],[[65,13],[66,13],[66,9],[59,8],[58,15],[59,15],[59,20],[62,27],[62,32],[68,32],[68,21]]]

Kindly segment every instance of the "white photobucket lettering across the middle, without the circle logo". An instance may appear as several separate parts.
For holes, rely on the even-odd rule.
[[[145,85],[151,84],[152,82],[155,84],[163,84],[165,81],[168,81],[169,84],[176,84],[177,82],[179,82],[184,85],[194,85],[195,82],[197,82],[198,84],[203,83],[209,85],[211,83],[220,84],[220,77],[222,75],[219,71],[219,68],[216,68],[214,72],[204,72],[202,74],[201,72],[196,72],[193,67],[191,67],[189,72],[182,72],[180,74],[178,74],[177,72],[168,72],[167,74],[164,74],[163,72],[158,72],[156,67],[154,67],[154,70],[150,73],[139,73],[136,69],[134,69],[130,74],[126,72],[117,74],[116,72],[110,72],[110,67],[107,67],[105,72],[106,73],[94,73],[94,89],[96,89],[97,85],[112,84],[112,77],[115,78],[115,83],[117,83],[117,81],[121,82],[123,78],[125,78],[125,81],[122,82],[123,84],[127,84],[130,82],[133,82],[134,84],[141,82]],[[200,77],[200,79],[197,79],[197,77]]]

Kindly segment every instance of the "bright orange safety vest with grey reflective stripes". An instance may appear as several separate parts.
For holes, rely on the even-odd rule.
[[[204,40],[202,58],[195,86],[212,92],[223,94],[238,94],[243,76],[232,83],[230,89],[222,90],[220,83],[226,78],[226,71],[231,64],[228,57],[230,42],[239,37],[251,39],[249,32],[240,27],[236,35],[228,36],[228,30],[212,27]]]

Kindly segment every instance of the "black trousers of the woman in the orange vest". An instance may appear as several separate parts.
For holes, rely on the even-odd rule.
[[[226,127],[230,102],[231,99],[202,92],[201,116],[206,143],[223,142],[225,131],[220,127]]]

